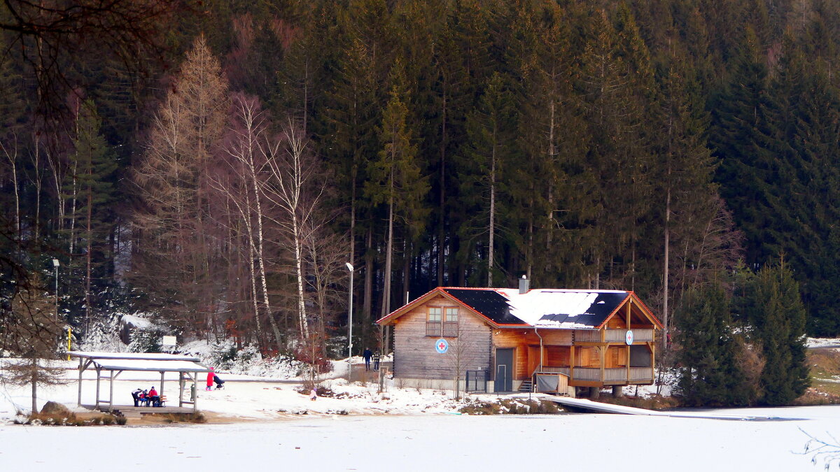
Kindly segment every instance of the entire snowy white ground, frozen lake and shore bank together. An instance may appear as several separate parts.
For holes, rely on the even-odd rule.
[[[346,374],[337,364],[333,375]],[[75,380],[76,363],[66,366]],[[773,421],[591,413],[469,417],[457,413],[461,404],[450,391],[397,388],[391,380],[382,393],[374,383],[321,380],[340,397],[310,401],[296,391],[295,380],[221,376],[228,380],[223,390],[199,388],[198,395],[200,409],[223,423],[202,425],[13,425],[8,420],[15,412],[29,408],[29,389],[0,385],[0,471],[821,470],[822,462],[811,464],[811,456],[801,454],[808,434],[840,438],[840,406],[706,411],[780,418]],[[93,378],[85,373],[84,403],[94,399]],[[160,384],[156,373],[123,372],[118,379],[114,394],[123,404],[134,388]],[[165,383],[171,402],[175,379],[167,376]],[[108,383],[102,392],[107,398]],[[52,400],[75,409],[76,395],[76,381],[42,388],[39,407]]]

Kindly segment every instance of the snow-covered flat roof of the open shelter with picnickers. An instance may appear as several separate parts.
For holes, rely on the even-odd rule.
[[[71,357],[90,359],[103,370],[144,370],[151,372],[209,372],[197,357],[180,354],[102,353],[70,351]]]

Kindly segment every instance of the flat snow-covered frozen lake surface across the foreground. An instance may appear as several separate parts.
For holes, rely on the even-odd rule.
[[[173,427],[0,426],[0,469],[822,469],[795,454],[807,441],[799,427],[822,437],[837,434],[840,407],[748,412],[811,419],[428,415]]]

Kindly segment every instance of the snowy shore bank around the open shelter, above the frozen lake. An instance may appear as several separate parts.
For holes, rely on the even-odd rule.
[[[0,376],[3,375],[3,362],[0,360]],[[58,401],[76,408],[78,399],[78,370],[75,361],[65,361],[68,369],[66,378],[70,382],[60,386],[40,386],[38,407],[46,401]],[[346,363],[337,363],[337,369],[330,375],[346,374]],[[225,387],[218,391],[204,391],[203,377],[198,385],[198,407],[202,411],[213,412],[230,419],[276,420],[296,417],[302,412],[307,414],[419,414],[425,412],[455,412],[463,406],[452,400],[451,391],[428,389],[398,389],[393,380],[387,380],[386,390],[378,393],[375,384],[375,372],[368,373],[370,382],[360,381],[349,384],[343,378],[319,380],[318,385],[326,387],[340,397],[322,397],[310,401],[309,396],[298,393],[299,379],[277,380],[254,375],[234,375],[220,372],[225,380]],[[359,374],[355,374],[359,375]],[[82,380],[81,403],[91,405],[96,401],[96,371],[86,370]],[[160,390],[160,374],[156,372],[125,371],[113,382],[114,403],[129,405],[132,403],[131,392],[137,388],[149,389],[152,385]],[[162,393],[167,396],[169,405],[177,405],[177,375],[165,376]],[[100,385],[100,399],[108,400],[110,382],[103,380]],[[189,396],[189,391],[185,391]],[[16,412],[28,412],[32,396],[29,387],[3,385],[0,382],[0,422],[8,421]]]

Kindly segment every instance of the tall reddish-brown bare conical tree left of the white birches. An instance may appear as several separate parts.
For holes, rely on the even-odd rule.
[[[202,36],[160,105],[135,181],[144,202],[135,224],[135,279],[186,328],[215,328],[225,304],[218,270],[224,229],[213,219],[206,169],[223,134],[228,83]],[[165,281],[161,278],[165,277]]]

